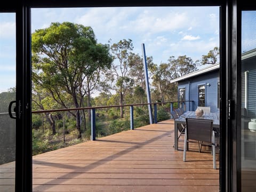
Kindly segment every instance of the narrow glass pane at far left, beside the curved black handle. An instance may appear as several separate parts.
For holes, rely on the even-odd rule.
[[[8,114],[15,100],[15,13],[0,13],[0,191],[14,191],[15,120]]]

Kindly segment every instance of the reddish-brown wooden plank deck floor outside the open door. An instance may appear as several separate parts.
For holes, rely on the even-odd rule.
[[[34,156],[33,191],[219,191],[209,149],[173,143],[167,120]]]

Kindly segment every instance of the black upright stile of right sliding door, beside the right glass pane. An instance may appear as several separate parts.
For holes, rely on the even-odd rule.
[[[241,30],[242,11],[256,10],[249,0],[233,0],[229,3],[229,30],[227,39],[227,100],[231,101],[231,117],[227,119],[227,178],[229,191],[241,191]],[[227,103],[228,104],[228,103]],[[227,105],[228,109],[228,105]],[[228,110],[227,110],[228,113]]]

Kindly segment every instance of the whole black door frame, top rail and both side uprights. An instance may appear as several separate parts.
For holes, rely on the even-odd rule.
[[[221,82],[221,152],[220,190],[241,190],[239,159],[239,117],[241,115],[240,89],[237,75],[241,71],[241,10],[247,9],[249,0],[196,0],[196,1],[90,1],[78,0],[7,2],[3,10],[12,10],[17,16],[17,162],[16,191],[32,191],[31,170],[31,55],[30,8],[82,7],[82,6],[220,6],[220,82]],[[250,5],[251,7],[251,5]],[[229,110],[230,109],[230,110]]]

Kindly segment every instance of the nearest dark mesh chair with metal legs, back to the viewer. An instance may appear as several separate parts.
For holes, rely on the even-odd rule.
[[[215,132],[213,131],[213,120],[186,118],[183,162],[186,162],[187,142],[198,143],[199,152],[201,152],[202,145],[211,146],[212,155],[213,155],[213,169],[216,169],[216,155],[215,155],[216,145],[215,145]]]

